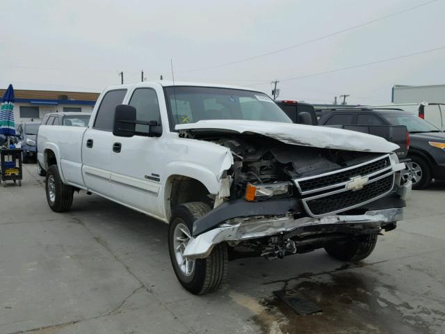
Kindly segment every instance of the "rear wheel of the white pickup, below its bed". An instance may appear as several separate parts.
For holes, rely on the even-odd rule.
[[[72,205],[74,189],[62,182],[57,165],[51,165],[47,171],[45,191],[49,207],[54,212],[68,211]]]

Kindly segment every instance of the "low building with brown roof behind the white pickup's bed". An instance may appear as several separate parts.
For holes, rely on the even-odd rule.
[[[0,96],[5,89],[0,89]],[[91,112],[99,93],[15,89],[15,123],[41,120],[46,113]]]

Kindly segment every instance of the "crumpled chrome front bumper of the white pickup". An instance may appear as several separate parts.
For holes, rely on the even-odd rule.
[[[410,196],[411,183],[398,186],[396,195],[405,200]],[[332,214],[323,217],[293,218],[292,214],[284,216],[253,216],[235,218],[220,223],[216,228],[191,238],[184,250],[184,256],[191,258],[207,257],[213,246],[223,241],[244,241],[270,237],[276,234],[305,230],[308,227],[339,228],[348,224],[350,228],[380,228],[403,219],[403,207],[373,209],[364,214]],[[293,233],[298,235],[297,233]]]

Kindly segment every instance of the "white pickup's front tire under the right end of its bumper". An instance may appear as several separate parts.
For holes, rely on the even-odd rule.
[[[325,246],[326,253],[341,261],[355,262],[369,257],[377,243],[376,234],[358,236],[356,240],[336,241]]]

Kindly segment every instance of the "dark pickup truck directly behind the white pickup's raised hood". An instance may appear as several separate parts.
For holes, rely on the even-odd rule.
[[[286,113],[292,122],[306,125],[319,125],[318,117],[322,111],[315,111],[312,104],[297,101],[277,101],[275,102]],[[339,127],[341,129],[363,132],[385,138],[391,143],[395,143],[399,148],[395,151],[400,161],[405,161],[408,154],[410,134],[403,125],[327,125],[329,127]]]

